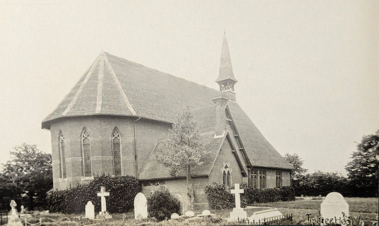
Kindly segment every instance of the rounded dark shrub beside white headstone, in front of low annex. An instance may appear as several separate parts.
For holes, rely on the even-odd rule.
[[[166,186],[160,186],[153,193],[147,195],[149,217],[163,221],[170,218],[171,214],[179,214],[180,202],[170,194]]]

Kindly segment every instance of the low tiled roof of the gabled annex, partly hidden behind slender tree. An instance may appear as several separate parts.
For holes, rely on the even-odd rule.
[[[224,136],[214,138],[214,133],[202,134],[201,138],[204,142],[209,142],[210,145],[207,149],[212,151],[212,155],[209,157],[209,160],[204,161],[204,164],[201,167],[191,168],[192,176],[205,176],[209,175],[210,171],[213,168],[214,161],[217,158],[218,152],[221,149],[222,143],[225,140],[227,133],[224,133]],[[185,169],[180,170],[175,177],[171,176],[169,169],[163,167],[162,165],[156,163],[155,158],[157,154],[165,149],[165,146],[162,144],[163,141],[158,141],[152,154],[149,157],[149,160],[145,164],[143,170],[138,176],[139,180],[150,180],[150,179],[163,179],[163,178],[178,178],[186,177],[187,171]]]

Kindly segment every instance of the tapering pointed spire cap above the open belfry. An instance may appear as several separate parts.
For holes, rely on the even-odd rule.
[[[222,41],[222,48],[221,48],[220,70],[218,72],[218,78],[216,79],[215,82],[220,82],[220,81],[228,80],[228,79],[234,81],[234,83],[237,82],[237,79],[234,78],[233,68],[231,66],[228,42],[226,40],[226,33],[224,31],[224,39]]]

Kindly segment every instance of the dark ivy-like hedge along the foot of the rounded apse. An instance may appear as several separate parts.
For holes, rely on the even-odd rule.
[[[101,186],[110,193],[106,198],[107,211],[110,213],[125,213],[132,209],[134,197],[140,189],[138,180],[132,176],[95,175],[89,184],[79,184],[70,189],[49,193],[48,208],[50,212],[82,214],[87,202],[91,201],[95,206],[95,212],[100,212],[101,199],[97,193],[100,192]]]

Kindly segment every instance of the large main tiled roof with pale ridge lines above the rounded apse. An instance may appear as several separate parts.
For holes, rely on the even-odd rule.
[[[218,90],[102,52],[42,128],[57,118],[98,114],[173,122],[187,106],[209,106],[218,96]]]

